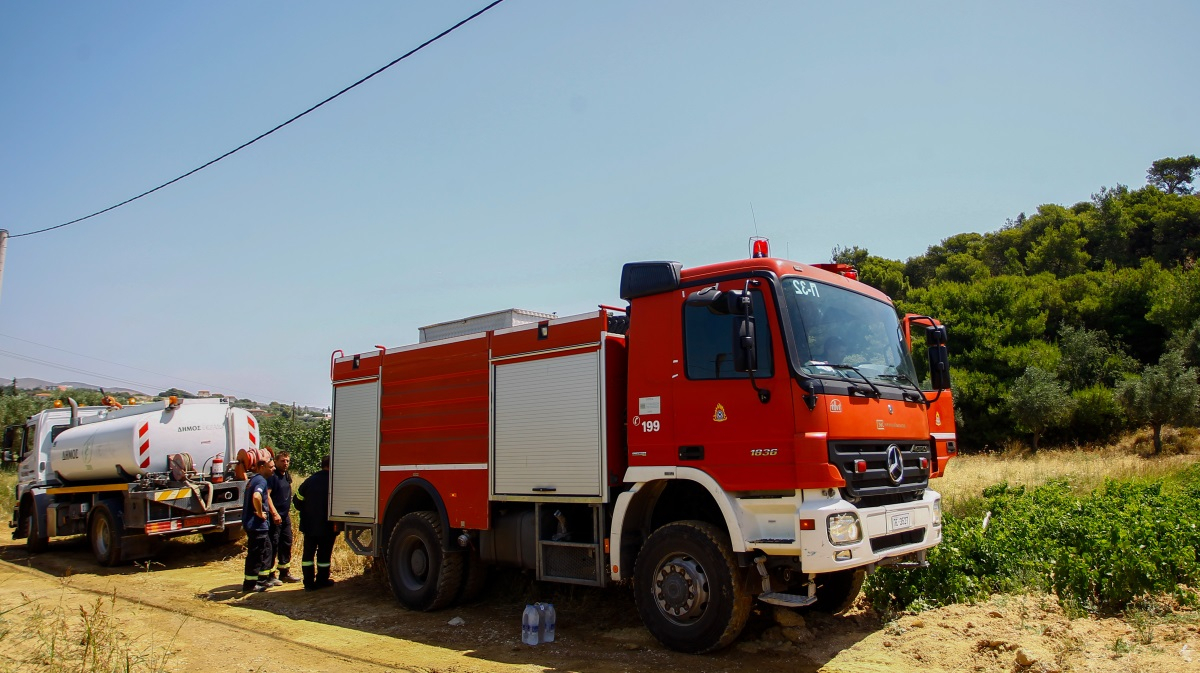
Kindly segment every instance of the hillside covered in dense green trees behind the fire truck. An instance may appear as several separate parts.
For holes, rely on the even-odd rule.
[[[1156,161],[1147,185],[1046,204],[906,262],[835,248],[900,311],[950,334],[959,440],[1103,441],[1192,423],[1200,402],[1200,158]],[[918,366],[919,366],[919,354]]]

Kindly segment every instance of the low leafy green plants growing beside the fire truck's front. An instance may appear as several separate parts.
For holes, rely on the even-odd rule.
[[[1116,613],[1146,594],[1193,603],[1196,521],[1200,465],[1177,482],[1109,480],[1085,494],[1061,480],[1032,489],[1001,483],[944,517],[929,567],[877,572],[866,595],[877,609],[1028,589],[1052,590],[1069,612]]]

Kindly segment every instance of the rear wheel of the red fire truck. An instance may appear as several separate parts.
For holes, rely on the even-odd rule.
[[[388,540],[388,581],[408,609],[440,609],[458,596],[462,554],[442,551],[442,522],[434,512],[410,512]]]

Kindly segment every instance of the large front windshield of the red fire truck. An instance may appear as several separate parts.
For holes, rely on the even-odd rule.
[[[800,372],[862,380],[857,369],[876,384],[917,385],[900,319],[890,305],[808,278],[786,276],[781,284]]]

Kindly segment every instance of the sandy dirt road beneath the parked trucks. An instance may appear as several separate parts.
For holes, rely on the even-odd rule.
[[[1049,596],[997,596],[888,623],[857,611],[800,620],[787,614],[781,625],[760,611],[733,648],[692,656],[658,644],[619,588],[556,587],[503,573],[479,602],[415,613],[398,607],[371,575],[343,576],[314,593],[290,584],[242,596],[242,552],[173,541],[149,567],[103,569],[83,540],[54,542],[38,555],[5,540],[0,671],[48,669],[48,632],[74,629],[71,642],[56,645],[65,653],[66,644],[79,649],[82,629],[97,632],[97,625],[107,625],[142,669],[194,673],[1200,671],[1193,613],[1158,624],[1068,620]],[[554,602],[557,642],[521,644],[521,611],[534,600]],[[448,624],[455,617],[464,624]]]

